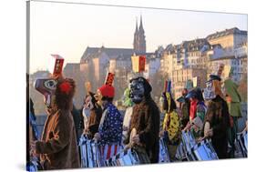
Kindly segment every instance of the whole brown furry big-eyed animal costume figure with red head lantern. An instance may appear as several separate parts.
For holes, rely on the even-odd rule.
[[[41,140],[31,145],[40,155],[45,170],[80,167],[72,109],[75,81],[62,76],[64,59],[56,55],[51,78],[36,79],[35,87],[44,95],[46,124]]]

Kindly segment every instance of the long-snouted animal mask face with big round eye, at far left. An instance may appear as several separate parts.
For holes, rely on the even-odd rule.
[[[54,102],[56,92],[56,80],[49,78],[36,79],[36,90],[44,96],[46,107],[50,108]]]

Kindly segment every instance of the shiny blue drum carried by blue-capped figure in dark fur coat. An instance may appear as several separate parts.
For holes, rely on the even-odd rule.
[[[199,144],[192,147],[188,156],[191,160],[199,161],[219,159],[209,139],[202,140]]]

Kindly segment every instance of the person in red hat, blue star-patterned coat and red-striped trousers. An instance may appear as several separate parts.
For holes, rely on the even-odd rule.
[[[114,74],[108,73],[105,85],[97,89],[97,104],[102,106],[103,114],[98,126],[95,139],[100,145],[101,163],[116,156],[121,148],[123,117],[118,108],[112,104],[115,96],[115,88],[112,86]]]

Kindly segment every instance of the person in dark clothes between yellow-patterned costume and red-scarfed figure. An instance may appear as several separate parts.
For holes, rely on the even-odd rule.
[[[189,108],[190,108],[190,103],[189,103],[189,98],[186,98],[188,95],[188,89],[184,88],[182,90],[182,96],[180,96],[177,101],[179,102],[179,116],[180,116],[180,128],[183,129],[185,126],[187,126],[189,122]]]

